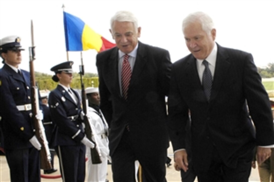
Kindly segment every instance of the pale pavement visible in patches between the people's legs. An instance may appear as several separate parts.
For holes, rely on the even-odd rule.
[[[172,159],[172,165],[170,167],[167,167],[167,171],[166,171],[166,179],[168,182],[180,182],[181,181],[181,176],[180,176],[180,172],[175,171],[175,169],[173,168],[173,152],[172,152],[172,147],[170,146],[168,148],[168,156]],[[47,177],[54,177],[54,176],[58,176],[60,175],[60,170],[59,170],[59,163],[58,163],[58,157],[54,157],[54,168],[58,169],[57,172],[52,173],[52,174],[47,174]],[[111,171],[111,165],[108,165],[108,175],[107,175],[107,179],[109,180],[109,182],[113,182],[112,180],[112,171]],[[41,174],[43,173],[43,170],[41,170]],[[10,181],[10,174],[9,174],[9,168],[7,165],[7,161],[4,155],[0,156],[0,181],[1,182],[8,182]],[[41,178],[41,182],[61,182],[62,179],[61,178]],[[197,180],[195,180],[197,181]],[[251,171],[251,175],[249,178],[250,182],[259,182],[259,173],[258,173],[258,168],[256,169],[252,169]]]

